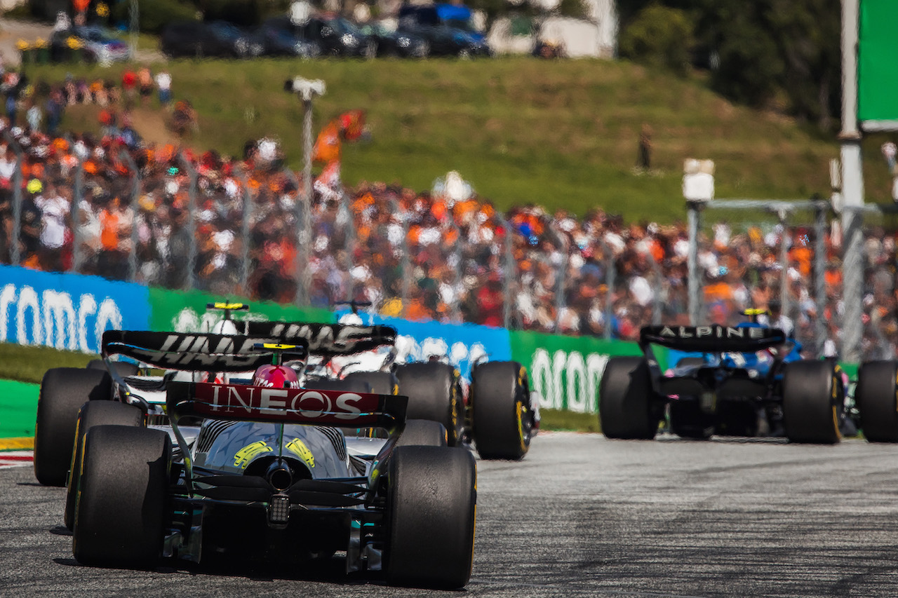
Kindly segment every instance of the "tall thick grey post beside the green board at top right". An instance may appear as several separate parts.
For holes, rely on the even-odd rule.
[[[842,318],[841,358],[847,362],[860,360],[860,339],[864,265],[863,209],[864,177],[860,154],[860,130],[858,129],[858,0],[842,0],[841,53],[842,53],[842,281],[845,315]]]

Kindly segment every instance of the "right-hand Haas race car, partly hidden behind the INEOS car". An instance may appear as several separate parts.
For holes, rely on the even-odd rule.
[[[458,368],[438,359],[397,364],[392,326],[248,321],[246,330],[284,343],[306,341],[310,359],[317,359],[304,373],[309,386],[401,392],[409,397],[409,419],[439,422],[450,446],[473,443],[484,459],[522,459],[539,429],[526,369],[516,362],[477,363],[469,385]]]

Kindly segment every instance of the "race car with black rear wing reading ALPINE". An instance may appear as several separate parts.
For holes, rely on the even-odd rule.
[[[833,360],[801,359],[783,330],[645,326],[643,356],[612,357],[599,384],[609,438],[653,438],[667,418],[676,435],[785,435],[832,444],[846,422],[845,385]],[[653,347],[691,352],[663,374]],[[697,356],[696,356],[697,355]]]

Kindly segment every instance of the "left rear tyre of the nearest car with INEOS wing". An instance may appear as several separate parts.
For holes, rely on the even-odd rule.
[[[94,427],[85,436],[82,460],[75,559],[99,567],[154,567],[163,549],[169,435],[145,427]]]

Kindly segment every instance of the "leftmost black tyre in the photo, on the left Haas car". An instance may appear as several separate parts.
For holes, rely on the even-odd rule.
[[[110,400],[108,372],[54,367],[40,382],[34,427],[34,475],[45,486],[65,486],[75,445],[78,409],[88,400]]]

